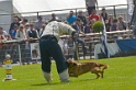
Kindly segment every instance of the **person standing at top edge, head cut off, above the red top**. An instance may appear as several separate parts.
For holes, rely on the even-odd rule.
[[[95,10],[95,5],[99,9],[98,0],[86,0],[86,7],[89,15],[92,13],[92,10]]]

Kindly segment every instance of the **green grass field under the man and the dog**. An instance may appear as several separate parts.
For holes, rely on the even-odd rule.
[[[94,60],[94,59],[92,59]],[[87,61],[87,60],[81,60]],[[41,70],[41,64],[13,66],[15,81],[2,81],[5,69],[0,68],[0,90],[135,90],[136,89],[136,56],[117,57],[95,60],[107,64],[103,79],[94,79],[90,72],[78,78],[70,78],[69,83],[60,83],[56,66],[53,63],[53,82],[46,83]]]

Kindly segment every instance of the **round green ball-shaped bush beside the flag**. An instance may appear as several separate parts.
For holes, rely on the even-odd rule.
[[[103,29],[104,29],[103,23],[100,21],[94,22],[94,24],[92,25],[92,30],[95,33],[100,33],[101,31],[103,31]]]

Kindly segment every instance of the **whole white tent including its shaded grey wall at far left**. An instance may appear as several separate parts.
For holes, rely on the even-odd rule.
[[[103,5],[115,5],[115,4],[126,4],[126,0],[98,0],[99,7]],[[13,4],[12,4],[13,3]],[[0,0],[0,25],[5,26],[8,31],[9,24],[12,21],[12,14],[23,13],[23,12],[39,12],[39,11],[50,11],[50,10],[63,10],[63,9],[77,9],[84,8],[84,0]],[[112,8],[112,7],[111,7]],[[118,7],[123,8],[123,7]],[[126,8],[126,7],[125,7]],[[113,9],[113,8],[112,8]],[[68,13],[67,11],[57,11],[55,13]],[[50,14],[52,12],[42,12],[42,14]],[[37,15],[36,13],[21,14],[22,16]]]

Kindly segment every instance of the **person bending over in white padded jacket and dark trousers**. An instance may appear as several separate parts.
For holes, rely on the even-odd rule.
[[[75,30],[68,24],[53,21],[46,25],[45,31],[39,38],[42,70],[47,82],[52,81],[50,57],[53,57],[56,61],[57,72],[59,74],[60,81],[69,82],[67,65],[65,63],[61,48],[58,44],[59,35],[61,35],[64,32],[73,36],[76,35]]]

